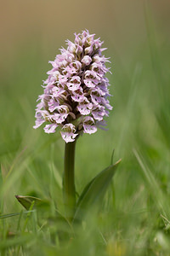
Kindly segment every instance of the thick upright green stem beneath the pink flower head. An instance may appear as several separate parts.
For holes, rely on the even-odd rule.
[[[73,143],[65,143],[65,170],[63,176],[63,196],[65,204],[65,218],[70,222],[73,218],[76,206],[75,191],[75,147],[76,141]]]

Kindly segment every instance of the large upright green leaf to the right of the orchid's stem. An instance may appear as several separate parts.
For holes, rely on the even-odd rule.
[[[102,200],[106,189],[111,183],[111,178],[116,172],[116,167],[120,162],[121,160],[118,160],[115,165],[111,165],[102,172],[99,172],[99,174],[88,183],[85,189],[83,189],[77,201],[73,222],[80,220],[85,212],[90,211],[90,208],[94,207],[94,204]]]

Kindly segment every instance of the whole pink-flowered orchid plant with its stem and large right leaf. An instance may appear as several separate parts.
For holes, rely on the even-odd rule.
[[[112,109],[109,97],[109,80],[105,74],[110,68],[105,66],[109,58],[102,55],[105,48],[100,39],[88,30],[75,33],[74,43],[67,40],[67,49],[60,49],[54,61],[49,61],[52,69],[43,82],[43,94],[38,96],[36,108],[37,129],[54,133],[60,127],[65,141],[65,167],[63,175],[63,196],[65,218],[70,223],[82,218],[96,198],[101,198],[111,183],[116,165],[111,165],[88,183],[78,201],[76,199],[74,161],[77,138],[83,133],[93,134],[105,126],[105,117]],[[88,189],[87,189],[88,188]]]

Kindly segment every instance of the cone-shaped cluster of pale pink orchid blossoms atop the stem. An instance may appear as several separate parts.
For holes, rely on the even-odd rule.
[[[92,134],[105,125],[104,117],[112,107],[107,99],[109,68],[105,67],[108,58],[102,55],[103,42],[88,31],[75,33],[74,43],[66,42],[67,49],[60,49],[61,54],[49,61],[53,68],[37,100],[34,128],[48,121],[44,131],[53,133],[60,126],[61,136],[70,143],[82,132]]]

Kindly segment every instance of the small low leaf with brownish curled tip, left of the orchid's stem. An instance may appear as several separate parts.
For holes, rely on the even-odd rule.
[[[31,207],[32,202],[34,201],[34,207],[36,208],[43,208],[48,209],[49,208],[49,202],[44,201],[40,198],[34,197],[34,196],[25,196],[25,195],[15,195],[16,199],[20,202],[20,204],[26,208],[26,210],[29,210]]]

